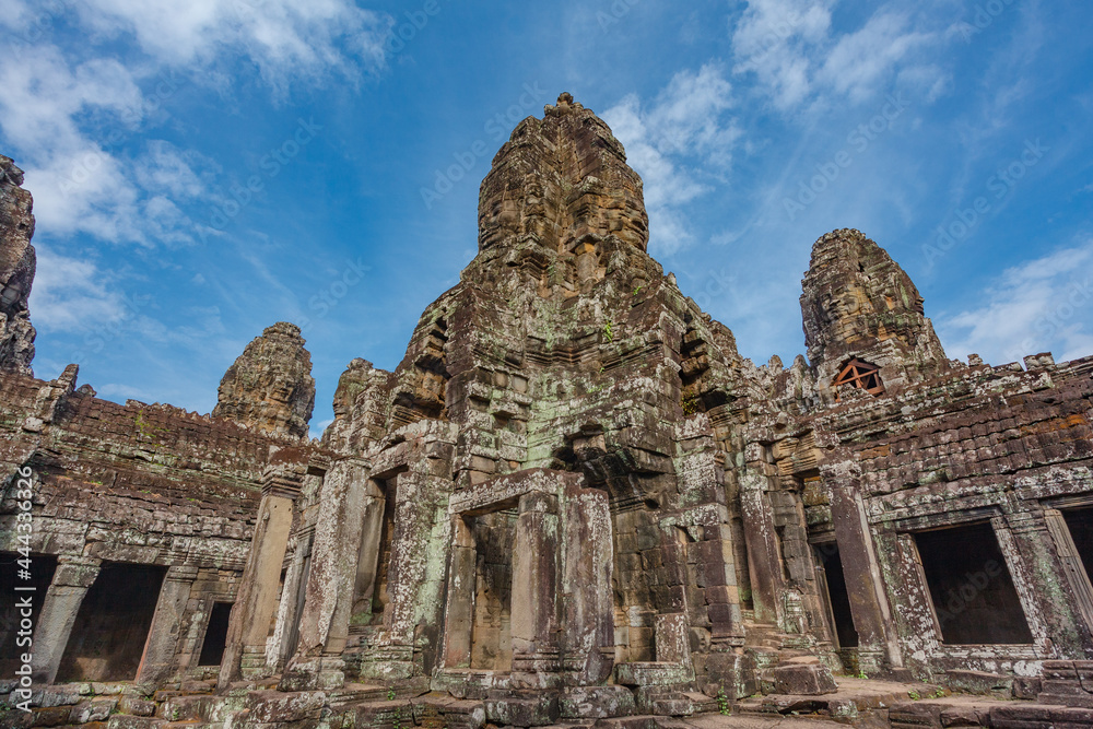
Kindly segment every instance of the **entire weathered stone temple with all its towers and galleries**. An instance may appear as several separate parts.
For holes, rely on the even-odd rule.
[[[211,415],[36,379],[22,181],[0,157],[0,725],[1093,725],[1093,357],[948,358],[858,231],[812,249],[808,360],[756,367],[563,94],[310,440],[291,324]]]

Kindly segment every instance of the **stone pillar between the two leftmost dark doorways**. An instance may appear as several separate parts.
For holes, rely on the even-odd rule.
[[[35,683],[52,683],[57,679],[64,648],[80,605],[89,588],[98,577],[102,560],[61,555],[57,571],[46,591],[46,599],[34,628],[34,660],[31,677]]]

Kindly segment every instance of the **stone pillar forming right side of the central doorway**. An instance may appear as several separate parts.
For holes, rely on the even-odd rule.
[[[520,497],[513,548],[514,685],[544,687],[542,674],[561,669],[557,512],[552,494],[533,491]]]

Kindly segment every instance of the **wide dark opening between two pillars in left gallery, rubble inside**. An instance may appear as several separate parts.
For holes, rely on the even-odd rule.
[[[77,613],[57,682],[132,681],[166,567],[105,563]]]

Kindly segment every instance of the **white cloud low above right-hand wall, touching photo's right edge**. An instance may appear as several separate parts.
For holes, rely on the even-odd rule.
[[[950,356],[994,364],[1054,352],[1059,362],[1093,354],[1093,240],[1007,269],[980,306],[937,319]]]

